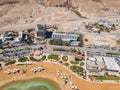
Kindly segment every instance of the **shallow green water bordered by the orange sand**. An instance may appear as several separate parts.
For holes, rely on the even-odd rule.
[[[14,81],[4,85],[0,90],[60,90],[60,88],[57,83],[52,80],[36,78]]]

